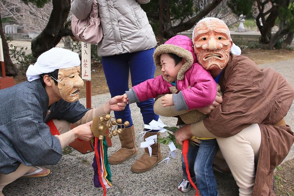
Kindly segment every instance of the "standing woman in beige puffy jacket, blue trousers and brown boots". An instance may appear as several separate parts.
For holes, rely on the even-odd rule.
[[[99,16],[103,29],[103,39],[98,43],[98,55],[102,57],[102,66],[111,97],[123,95],[129,90],[129,71],[132,86],[154,78],[155,64],[153,61],[156,38],[148,22],[146,13],[140,6],[150,0],[97,0]],[[93,0],[71,0],[71,11],[78,19],[88,18]],[[153,112],[153,99],[137,103],[141,110],[144,124],[158,120]],[[130,127],[119,135],[121,149],[113,153],[109,163],[120,164],[128,158],[136,156],[138,150],[129,105],[126,109],[114,112],[116,118],[128,120]],[[153,131],[153,130],[152,130]],[[157,134],[147,132],[144,139]],[[153,144],[152,156],[148,149],[133,164],[133,172],[145,172],[157,165],[162,159],[160,145]]]

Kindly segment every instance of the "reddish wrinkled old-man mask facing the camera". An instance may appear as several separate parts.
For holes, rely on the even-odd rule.
[[[233,41],[223,21],[200,21],[194,29],[193,43],[198,63],[204,69],[223,69],[227,65]]]

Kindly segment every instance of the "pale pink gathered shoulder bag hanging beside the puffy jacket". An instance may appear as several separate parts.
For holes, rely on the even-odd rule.
[[[96,44],[102,40],[103,30],[96,0],[93,1],[90,16],[87,19],[80,20],[73,16],[71,19],[71,31],[79,41]]]

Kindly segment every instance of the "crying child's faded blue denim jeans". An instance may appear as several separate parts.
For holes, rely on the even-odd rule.
[[[189,172],[193,182],[202,196],[217,196],[218,190],[216,178],[213,174],[213,160],[218,152],[218,143],[216,139],[202,140],[199,146],[193,147],[189,144],[187,154]],[[189,180],[186,173],[186,166],[182,155],[183,178]]]

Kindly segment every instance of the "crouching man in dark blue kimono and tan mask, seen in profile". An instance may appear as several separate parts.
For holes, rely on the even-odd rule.
[[[0,91],[0,195],[19,177],[49,175],[38,165],[57,164],[62,148],[76,138],[93,138],[93,117],[124,109],[122,96],[93,109],[79,103],[80,63],[77,53],[52,48],[29,66],[28,81]],[[70,123],[76,127],[70,130]]]

